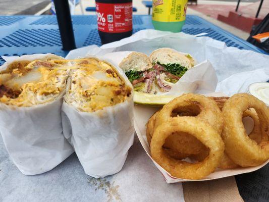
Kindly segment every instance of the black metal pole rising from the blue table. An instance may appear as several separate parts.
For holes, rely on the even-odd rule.
[[[57,21],[64,51],[76,48],[68,0],[54,0]]]

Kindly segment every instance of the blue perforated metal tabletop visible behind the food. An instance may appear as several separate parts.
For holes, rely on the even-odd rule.
[[[95,15],[73,16],[72,19],[77,47],[101,45]],[[52,52],[59,56],[68,54],[67,51],[62,50],[56,16],[3,16],[0,17],[1,25],[5,27],[0,32],[0,56],[43,52]],[[133,16],[133,33],[152,28],[151,16]],[[207,36],[224,41],[228,46],[251,49],[261,53],[257,47],[197,16],[187,16],[183,31],[188,34],[206,32]],[[3,60],[0,59],[0,65],[2,63]]]

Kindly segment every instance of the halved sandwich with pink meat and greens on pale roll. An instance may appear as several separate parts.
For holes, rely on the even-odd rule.
[[[119,66],[132,83],[134,91],[158,94],[170,91],[194,63],[189,54],[159,48],[149,57],[133,52]]]

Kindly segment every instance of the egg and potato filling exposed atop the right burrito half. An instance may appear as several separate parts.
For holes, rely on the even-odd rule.
[[[94,112],[104,107],[122,103],[131,94],[131,88],[117,75],[116,71],[96,59],[70,61],[71,86],[65,100],[80,111]]]

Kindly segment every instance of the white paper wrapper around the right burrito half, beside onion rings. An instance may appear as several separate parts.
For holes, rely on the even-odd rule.
[[[121,69],[113,66],[132,87]],[[125,102],[96,112],[80,112],[65,102],[62,111],[64,135],[85,173],[99,178],[119,172],[134,140],[133,92]]]

